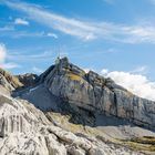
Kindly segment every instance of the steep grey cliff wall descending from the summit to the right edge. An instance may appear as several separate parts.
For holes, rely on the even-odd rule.
[[[132,94],[111,79],[92,71],[85,73],[66,58],[41,74],[40,82],[70,104],[155,127],[155,102]]]

